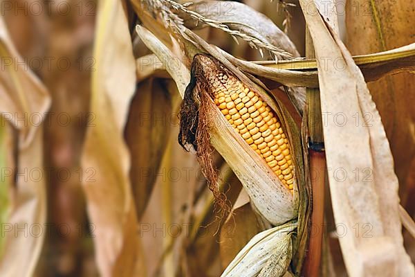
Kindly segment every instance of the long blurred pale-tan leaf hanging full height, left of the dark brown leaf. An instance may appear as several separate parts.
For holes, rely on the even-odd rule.
[[[129,102],[136,87],[136,64],[122,3],[101,1],[95,33],[91,112],[82,154],[88,213],[95,226],[95,249],[102,276],[143,276],[136,208],[129,181],[129,152],[123,139]]]

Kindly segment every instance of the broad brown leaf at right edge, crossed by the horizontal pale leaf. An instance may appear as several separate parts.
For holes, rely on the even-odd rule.
[[[353,3],[353,4],[351,4]],[[353,55],[386,51],[414,42],[415,2],[405,0],[347,2],[347,46]],[[365,39],[358,39],[365,37]],[[371,43],[367,43],[367,42]],[[400,195],[405,206],[412,193],[406,186],[415,186],[410,174],[415,154],[415,75],[402,73],[368,84],[376,102],[400,182]],[[408,203],[409,204],[409,203]],[[412,204],[411,211],[415,211]]]

